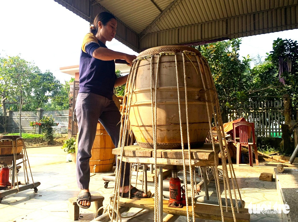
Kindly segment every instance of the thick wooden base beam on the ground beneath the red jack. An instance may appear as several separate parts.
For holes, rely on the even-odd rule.
[[[167,214],[186,216],[186,206],[182,208],[173,208],[168,207],[168,200],[163,201],[163,212]],[[126,207],[136,207],[142,209],[154,210],[154,199],[153,198],[144,198],[144,199],[127,199],[127,198],[119,198],[119,205]],[[195,218],[207,219],[207,220],[215,220],[221,221],[221,211],[218,205],[210,205],[204,203],[195,203]],[[232,208],[228,207],[228,212],[226,212],[226,207],[223,206],[224,210],[224,220],[233,222]],[[192,206],[188,206],[188,211],[190,217],[193,215]],[[248,213],[248,209],[239,208],[239,213],[237,213],[237,209],[234,208],[235,217],[238,222],[249,222],[250,214]]]

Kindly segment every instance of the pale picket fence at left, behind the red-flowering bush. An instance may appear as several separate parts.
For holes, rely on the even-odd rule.
[[[51,116],[58,123],[58,126],[53,127],[54,133],[67,133],[68,132],[68,110],[53,110],[43,111],[43,116]],[[34,127],[30,127],[30,122],[36,121],[36,111],[24,111],[21,113],[21,131],[22,132],[35,132]],[[42,117],[41,117],[42,118]],[[18,111],[12,112],[9,124],[9,131],[19,132],[19,115]]]

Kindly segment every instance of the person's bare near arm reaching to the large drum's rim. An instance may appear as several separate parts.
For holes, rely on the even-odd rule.
[[[103,61],[125,59],[125,61],[127,61],[129,64],[132,64],[132,61],[136,58],[135,55],[128,55],[126,53],[116,52],[105,47],[99,47],[95,49],[92,53],[92,56]]]

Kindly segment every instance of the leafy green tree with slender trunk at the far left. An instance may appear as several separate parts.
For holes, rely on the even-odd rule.
[[[21,136],[21,111],[27,107],[34,110],[59,91],[52,73],[41,71],[34,64],[19,56],[0,57],[0,95],[4,104],[19,112],[19,130]]]

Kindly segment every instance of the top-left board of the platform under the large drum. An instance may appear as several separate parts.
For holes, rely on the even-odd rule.
[[[138,145],[124,147],[123,156],[152,157],[153,149],[142,148]],[[121,147],[112,150],[115,155],[121,155]]]

